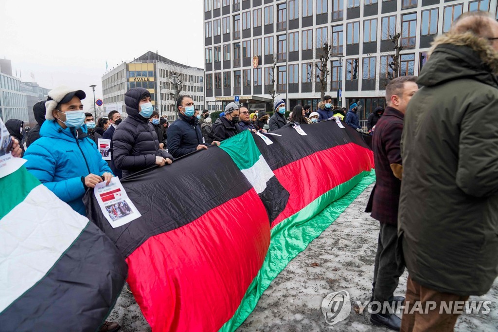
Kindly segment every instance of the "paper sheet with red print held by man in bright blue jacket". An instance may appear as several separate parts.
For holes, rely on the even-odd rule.
[[[94,194],[102,213],[113,228],[123,226],[141,216],[116,176],[111,179],[109,185],[106,185],[106,182],[98,183]]]

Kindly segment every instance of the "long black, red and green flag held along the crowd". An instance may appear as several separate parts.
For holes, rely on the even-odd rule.
[[[124,178],[141,217],[122,227],[87,193],[88,216],[126,257],[153,331],[235,330],[271,280],[373,181],[373,154],[354,130],[335,122],[302,129],[307,136],[276,131],[271,145],[245,131]]]

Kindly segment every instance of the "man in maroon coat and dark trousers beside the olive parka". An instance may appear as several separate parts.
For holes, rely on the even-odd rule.
[[[403,171],[399,143],[406,107],[418,90],[416,79],[415,76],[402,76],[393,79],[386,86],[387,107],[375,126],[372,140],[377,181],[366,212],[372,212],[372,217],[380,222],[372,300],[383,306],[404,301],[403,297],[394,296],[399,276],[404,271],[404,265],[396,262],[398,202]],[[399,331],[401,326],[399,317],[383,310],[372,314],[370,321],[394,331]]]

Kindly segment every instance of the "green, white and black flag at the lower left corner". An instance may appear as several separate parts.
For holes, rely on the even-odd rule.
[[[96,331],[123,288],[123,256],[24,166],[0,192],[0,331]]]

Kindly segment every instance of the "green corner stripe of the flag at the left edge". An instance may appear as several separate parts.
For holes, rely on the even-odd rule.
[[[0,219],[3,218],[17,204],[22,202],[29,192],[40,184],[40,181],[31,175],[25,167],[0,179]],[[14,190],[15,189],[15,190]]]

